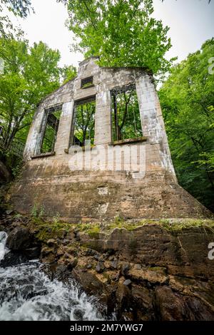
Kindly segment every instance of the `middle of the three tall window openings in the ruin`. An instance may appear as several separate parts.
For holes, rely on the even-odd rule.
[[[95,97],[75,103],[71,130],[71,145],[86,145],[86,140],[94,143]]]

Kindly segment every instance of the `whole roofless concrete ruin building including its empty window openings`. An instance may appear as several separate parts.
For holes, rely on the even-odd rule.
[[[39,104],[11,202],[48,217],[93,222],[208,217],[178,185],[153,77],[91,57]]]

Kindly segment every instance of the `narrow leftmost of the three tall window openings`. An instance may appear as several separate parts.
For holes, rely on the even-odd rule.
[[[52,153],[54,151],[60,116],[61,110],[56,110],[56,108],[46,110],[46,125],[40,153]]]

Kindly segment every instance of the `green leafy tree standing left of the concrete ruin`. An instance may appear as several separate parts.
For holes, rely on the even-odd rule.
[[[0,121],[5,148],[14,138],[25,140],[36,105],[59,86],[60,54],[39,42],[30,47],[26,40],[0,39]]]

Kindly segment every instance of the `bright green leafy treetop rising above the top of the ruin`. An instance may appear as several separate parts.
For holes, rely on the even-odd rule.
[[[101,66],[143,66],[163,74],[171,43],[168,27],[153,19],[152,0],[68,0],[68,27],[77,38],[74,50],[101,56]]]

